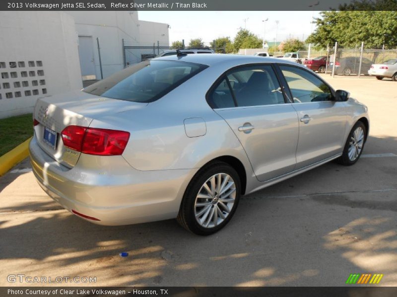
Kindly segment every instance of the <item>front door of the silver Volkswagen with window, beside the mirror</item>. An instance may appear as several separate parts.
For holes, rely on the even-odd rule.
[[[279,67],[299,118],[295,169],[340,153],[347,127],[345,103],[336,102],[331,88],[315,74],[292,65]]]

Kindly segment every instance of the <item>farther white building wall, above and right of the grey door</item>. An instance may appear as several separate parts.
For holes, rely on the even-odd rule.
[[[95,76],[101,79],[96,38],[99,38],[103,78],[124,68],[123,39],[126,46],[169,46],[168,24],[138,20],[137,11],[66,11],[74,17],[79,36],[92,37]],[[127,49],[126,62],[141,61],[147,50]],[[152,51],[150,51],[152,52]],[[157,53],[157,49],[156,49]]]

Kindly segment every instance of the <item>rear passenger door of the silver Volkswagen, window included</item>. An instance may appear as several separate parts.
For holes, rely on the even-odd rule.
[[[271,65],[238,67],[223,75],[207,97],[245,149],[258,180],[292,171],[298,118],[286,103]]]

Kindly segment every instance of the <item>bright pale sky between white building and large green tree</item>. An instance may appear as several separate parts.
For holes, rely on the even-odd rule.
[[[139,11],[140,20],[170,25],[170,43],[201,38],[205,45],[212,40],[234,38],[240,27],[247,28],[268,42],[289,37],[306,39],[312,30],[311,19],[320,11]],[[263,20],[268,19],[266,22]],[[278,25],[276,24],[278,21]],[[315,24],[313,24],[315,30]],[[277,37],[276,37],[277,36]]]

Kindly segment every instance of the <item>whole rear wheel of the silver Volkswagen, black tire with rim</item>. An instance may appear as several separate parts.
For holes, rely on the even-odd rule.
[[[219,193],[222,192],[219,186],[224,186],[226,195],[230,194],[219,195],[219,189]],[[211,194],[212,189],[214,194]],[[224,162],[209,164],[201,168],[189,183],[177,221],[182,227],[197,235],[211,235],[231,220],[238,206],[240,193],[241,182],[236,170]]]

